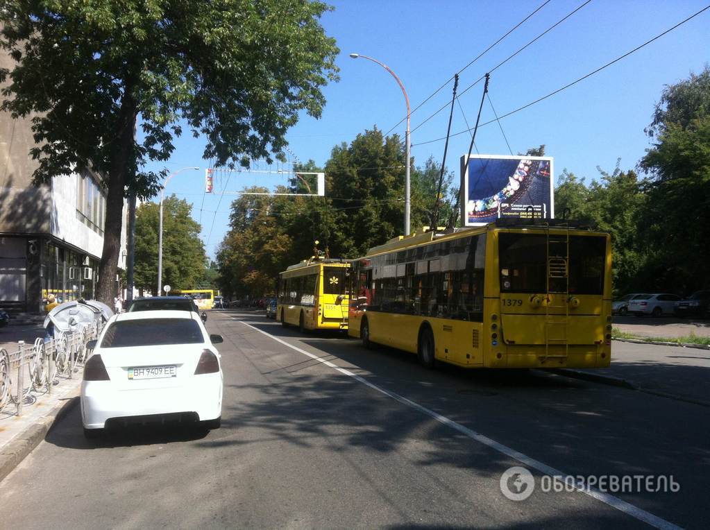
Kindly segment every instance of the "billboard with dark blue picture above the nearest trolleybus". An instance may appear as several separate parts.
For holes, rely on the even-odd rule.
[[[496,219],[553,219],[552,157],[461,157],[461,222],[479,226]]]

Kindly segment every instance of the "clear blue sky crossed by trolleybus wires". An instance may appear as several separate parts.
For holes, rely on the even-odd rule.
[[[327,104],[322,118],[302,116],[288,133],[290,150],[298,160],[322,165],[334,145],[349,143],[358,133],[377,126],[404,136],[405,103],[395,80],[373,62],[353,60],[349,53],[370,55],[385,62],[402,79],[414,109],[427,96],[488,45],[523,20],[543,0],[532,1],[332,1],[334,11],[322,24],[337,40],[340,82],[325,87]],[[461,72],[459,94],[498,62],[518,50],[573,11],[584,0],[551,0],[523,26],[511,33],[471,67]],[[537,40],[491,74],[489,96],[498,115],[517,109],[662,33],[707,5],[707,0],[592,0],[550,33]],[[710,60],[710,10],[672,33],[606,68],[564,92],[501,120],[514,153],[540,144],[555,158],[555,177],[567,169],[586,177],[599,175],[596,166],[613,170],[621,158],[623,169],[635,167],[648,148],[643,129],[650,123],[665,84],[699,72]],[[442,159],[444,142],[425,143],[446,134],[449,109],[420,123],[451,101],[453,82],[447,84],[411,117],[412,155],[415,165],[434,156]],[[460,98],[466,120],[473,126],[483,84]],[[464,114],[454,109],[452,133],[464,131]],[[481,122],[493,119],[486,101]],[[458,167],[471,138],[461,134],[449,143],[447,166]],[[479,128],[476,144],[481,153],[508,154],[496,123]],[[153,168],[196,165],[200,172],[177,175],[166,190],[187,199],[193,216],[202,223],[207,253],[215,249],[228,229],[229,204],[234,196],[205,195],[202,160],[204,140],[189,134],[175,142],[168,163]],[[294,158],[290,156],[290,160]],[[262,169],[266,169],[262,167]],[[271,187],[283,183],[277,176],[235,174],[215,180],[215,191],[237,191],[245,185]],[[327,193],[327,190],[326,190]],[[215,213],[216,212],[216,213]]]

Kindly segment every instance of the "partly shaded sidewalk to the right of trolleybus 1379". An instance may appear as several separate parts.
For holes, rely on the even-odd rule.
[[[710,350],[613,341],[609,368],[563,372],[710,407]]]

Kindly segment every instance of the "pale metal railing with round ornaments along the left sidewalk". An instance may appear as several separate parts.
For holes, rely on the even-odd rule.
[[[87,341],[98,338],[101,321],[76,331],[55,332],[49,340],[37,338],[32,346],[19,341],[16,350],[0,348],[0,412],[14,404],[16,415],[37,394],[51,394],[60,378],[72,379],[89,358]]]

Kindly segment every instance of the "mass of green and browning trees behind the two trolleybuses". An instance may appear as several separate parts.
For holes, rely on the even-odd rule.
[[[326,162],[327,197],[244,195],[231,206],[230,231],[219,248],[219,282],[228,295],[261,297],[278,272],[314,255],[356,258],[403,231],[405,149],[398,136],[373,128],[351,144],[336,145]],[[296,171],[321,171],[309,161]],[[412,172],[412,226],[429,224],[440,165],[433,159]],[[452,209],[452,174],[444,172],[439,219]],[[296,192],[297,182],[280,192]],[[245,192],[265,191],[249,188]]]

